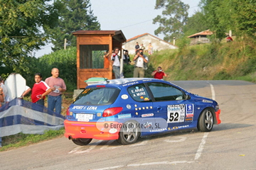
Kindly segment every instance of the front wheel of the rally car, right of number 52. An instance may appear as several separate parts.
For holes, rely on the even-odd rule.
[[[198,130],[201,132],[210,132],[213,129],[213,112],[206,108],[198,119]]]

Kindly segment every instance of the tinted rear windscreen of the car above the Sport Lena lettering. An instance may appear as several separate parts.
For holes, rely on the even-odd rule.
[[[92,88],[85,89],[75,98],[75,105],[101,106],[110,105],[117,99],[120,90],[115,88]]]

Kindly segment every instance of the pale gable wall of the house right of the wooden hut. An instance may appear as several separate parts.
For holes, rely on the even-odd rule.
[[[130,40],[129,42],[125,42],[122,45],[122,48],[125,49],[125,50],[129,50],[130,55],[134,55],[135,54],[136,42],[139,42],[139,46],[141,44],[143,44],[144,47],[146,48],[145,50],[148,50],[149,42],[151,42],[151,45],[153,46],[154,51],[178,48],[175,45],[171,45],[168,42],[165,42],[164,40],[159,40],[158,38],[154,38],[151,35],[144,35],[144,36],[139,37],[137,39]]]

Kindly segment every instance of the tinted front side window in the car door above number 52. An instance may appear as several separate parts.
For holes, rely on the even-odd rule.
[[[156,101],[178,101],[185,99],[183,92],[170,84],[148,83],[148,85]]]

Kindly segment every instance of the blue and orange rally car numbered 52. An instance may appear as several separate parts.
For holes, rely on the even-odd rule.
[[[133,144],[139,137],[174,130],[210,132],[220,124],[218,103],[159,79],[113,79],[87,86],[67,111],[65,137]]]

